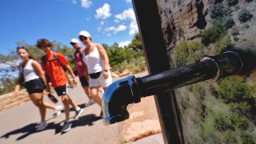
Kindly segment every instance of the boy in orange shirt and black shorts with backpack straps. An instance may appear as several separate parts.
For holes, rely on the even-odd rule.
[[[74,118],[78,118],[82,114],[83,110],[68,95],[69,78],[67,77],[64,69],[69,71],[75,85],[77,84],[77,80],[64,55],[61,53],[56,53],[52,50],[53,45],[51,42],[45,38],[38,39],[37,46],[46,54],[41,58],[42,69],[45,70],[46,76],[49,78],[47,81],[46,90],[50,92],[50,81],[52,86],[54,86],[54,90],[57,92],[58,96],[62,97],[62,103],[65,107],[64,111],[66,115],[66,120],[62,127],[62,132],[67,132],[72,126],[72,123],[69,122],[70,105],[73,106],[74,110],[76,110]]]

